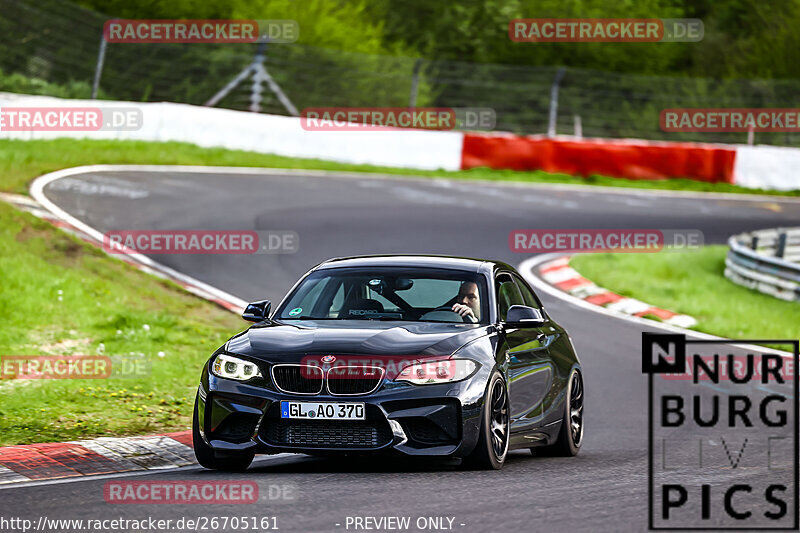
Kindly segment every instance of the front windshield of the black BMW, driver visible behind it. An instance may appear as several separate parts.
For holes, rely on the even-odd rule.
[[[487,301],[486,282],[473,272],[342,268],[310,274],[275,318],[487,323]]]

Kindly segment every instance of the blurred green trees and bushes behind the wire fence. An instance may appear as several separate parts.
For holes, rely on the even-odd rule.
[[[55,84],[38,88],[51,94],[82,80],[79,95],[88,92],[109,16],[294,19],[299,41],[267,46],[264,65],[300,110],[407,106],[418,72],[417,106],[491,108],[497,130],[540,134],[547,131],[552,82],[565,66],[559,134],[573,133],[580,117],[587,137],[744,143],[746,133],[667,133],[659,115],[667,108],[790,108],[800,90],[800,80],[789,79],[800,64],[800,37],[793,31],[800,27],[800,0],[82,2],[98,11],[61,0],[11,3],[0,13],[0,69]],[[705,39],[512,42],[509,21],[526,17],[699,18]],[[259,49],[110,44],[100,88],[110,99],[203,105]],[[261,112],[288,113],[272,91],[260,89],[245,80],[217,106],[250,110],[252,95],[260,94]],[[800,135],[759,132],[755,142],[797,146]]]

